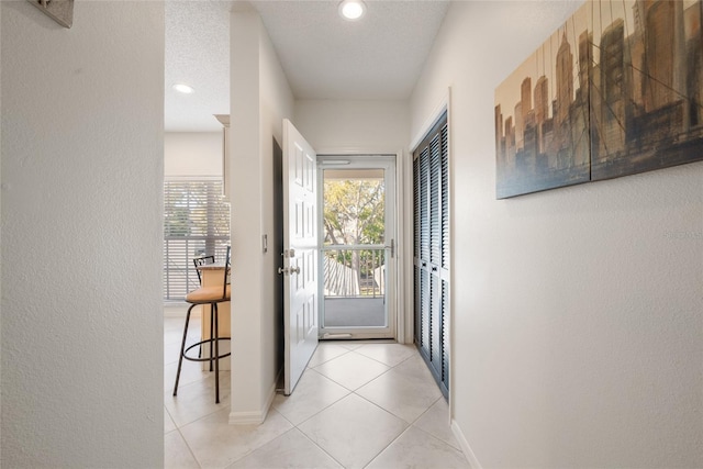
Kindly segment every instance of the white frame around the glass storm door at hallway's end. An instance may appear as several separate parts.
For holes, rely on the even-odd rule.
[[[392,261],[394,264],[394,275],[393,278],[391,280],[389,280],[387,282],[388,286],[390,286],[392,288],[392,294],[389,294],[387,298],[388,301],[388,311],[389,311],[389,327],[391,330],[390,335],[392,335],[392,338],[394,338],[397,342],[401,343],[401,344],[412,344],[413,337],[412,334],[408,335],[406,334],[406,323],[410,320],[410,322],[412,323],[412,316],[409,319],[406,314],[401,314],[401,311],[405,311],[405,304],[406,304],[406,300],[405,300],[405,290],[404,290],[404,277],[405,277],[405,263],[404,263],[404,255],[402,255],[402,253],[404,253],[405,249],[405,234],[404,232],[404,227],[405,227],[405,212],[404,212],[404,204],[403,204],[403,194],[404,194],[404,190],[405,190],[405,178],[404,178],[404,155],[405,152],[403,152],[402,149],[379,149],[379,148],[362,148],[362,147],[347,147],[347,148],[316,148],[317,150],[317,157],[319,157],[319,161],[320,159],[358,159],[358,160],[362,160],[364,158],[379,158],[379,157],[383,157],[383,158],[390,158],[393,160],[394,166],[395,166],[395,178],[394,178],[394,189],[393,189],[393,204],[392,204],[392,210],[394,211],[394,226],[393,226],[393,233],[392,233],[392,239],[394,239],[394,250],[395,254],[392,257]],[[349,167],[348,165],[345,167]],[[412,167],[412,165],[411,165]],[[322,208],[323,208],[323,191],[322,191],[322,180],[323,180],[323,176],[322,176],[322,170],[320,170],[320,165],[319,165],[319,174],[317,174],[317,185],[319,185],[319,210],[317,210],[317,220],[319,220],[319,236],[317,236],[317,246],[319,246],[319,250],[322,247],[322,243],[323,243],[323,236],[322,236]],[[412,189],[412,187],[411,187]],[[322,263],[322,256],[319,256],[320,263]],[[412,259],[411,259],[412,261]],[[320,271],[322,272],[322,267],[320,267]],[[322,284],[322,279],[321,279],[321,284]],[[323,287],[320,286],[320,289],[322,289]],[[324,302],[324,295],[320,294],[319,295],[319,309],[317,311],[320,312],[320,315],[322,315],[322,311],[323,311],[323,302]],[[322,317],[321,317],[322,319]],[[372,331],[372,330],[369,330]],[[373,332],[369,332],[369,333],[365,333],[365,334],[357,334],[355,336],[355,338],[388,338],[389,334],[388,333],[383,333],[383,334],[378,334],[378,333],[373,333]],[[321,337],[323,338],[323,337]],[[410,340],[410,342],[406,342]]]

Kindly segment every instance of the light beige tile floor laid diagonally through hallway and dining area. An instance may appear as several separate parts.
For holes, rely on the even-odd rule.
[[[167,468],[468,468],[447,403],[413,346],[322,342],[290,397],[261,425],[230,425],[230,372],[186,361],[172,386],[183,320],[164,320]],[[199,321],[190,335],[199,334]]]

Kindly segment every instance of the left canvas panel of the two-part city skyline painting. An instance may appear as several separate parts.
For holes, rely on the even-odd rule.
[[[499,199],[590,180],[590,8],[495,90]]]

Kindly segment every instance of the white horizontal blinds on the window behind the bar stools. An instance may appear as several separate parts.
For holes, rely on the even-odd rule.
[[[164,182],[164,299],[182,300],[198,288],[193,258],[224,261],[230,244],[230,205],[221,180]]]

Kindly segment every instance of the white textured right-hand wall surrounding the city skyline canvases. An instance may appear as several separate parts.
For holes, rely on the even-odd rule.
[[[453,418],[483,467],[703,466],[703,163],[495,200],[493,92],[580,2],[455,2]]]

